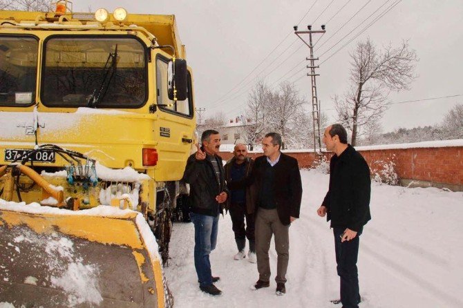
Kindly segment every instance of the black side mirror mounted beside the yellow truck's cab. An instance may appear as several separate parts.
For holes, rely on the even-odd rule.
[[[185,99],[187,99],[188,97],[187,60],[176,59],[175,62],[169,61],[167,76],[167,95],[169,96],[169,99],[173,100],[173,88],[175,87],[175,89],[177,90],[177,100],[185,101]]]

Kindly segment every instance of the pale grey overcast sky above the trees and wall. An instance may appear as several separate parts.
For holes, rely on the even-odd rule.
[[[187,61],[193,68],[196,108],[205,108],[205,117],[219,111],[228,118],[243,114],[249,88],[258,76],[272,87],[284,80],[294,81],[309,102],[310,77],[305,77],[304,69],[309,50],[294,35],[296,24],[299,30],[308,24],[313,29],[326,24],[314,55],[320,58],[316,82],[321,110],[330,122],[337,116],[332,97],[348,88],[349,52],[366,37],[379,47],[399,46],[408,39],[419,57],[418,77],[411,89],[389,95],[390,102],[399,104],[391,104],[386,111],[381,121],[384,131],[436,124],[455,104],[463,103],[462,0],[74,1],[75,11],[88,11],[89,7],[111,11],[118,6],[133,13],[176,15]],[[453,95],[459,96],[447,97]],[[429,99],[434,97],[447,98]],[[429,100],[401,103],[418,99]]]

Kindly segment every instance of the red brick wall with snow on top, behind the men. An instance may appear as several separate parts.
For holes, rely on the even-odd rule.
[[[393,161],[399,179],[421,180],[426,182],[463,185],[463,146],[442,148],[395,148],[388,150],[359,151],[368,162],[370,169],[375,169],[379,162]],[[314,153],[287,153],[295,157],[301,168],[310,168],[316,155]],[[327,158],[331,153],[323,153]],[[262,153],[251,153],[251,157]],[[233,153],[222,152],[224,160],[233,157]]]

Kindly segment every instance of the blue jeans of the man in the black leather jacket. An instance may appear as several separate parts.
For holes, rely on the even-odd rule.
[[[212,285],[211,262],[209,253],[216,249],[218,232],[218,214],[216,217],[190,213],[194,224],[194,265],[200,286]]]

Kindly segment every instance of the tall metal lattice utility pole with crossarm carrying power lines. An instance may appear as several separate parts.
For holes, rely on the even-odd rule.
[[[319,108],[319,103],[318,99],[316,97],[316,76],[320,76],[320,74],[315,73],[315,68],[319,68],[320,66],[315,66],[315,61],[318,61],[319,58],[314,58],[314,45],[312,44],[312,35],[313,34],[324,34],[325,31],[325,25],[321,25],[321,30],[312,30],[312,26],[309,25],[307,26],[308,30],[307,31],[298,31],[297,26],[294,26],[294,34],[301,39],[305,45],[309,47],[310,50],[310,57],[305,58],[305,60],[310,61],[310,64],[307,66],[307,68],[310,68],[310,73],[307,73],[308,76],[310,76],[310,79],[312,81],[312,128],[314,132],[314,151],[316,152],[316,144],[319,144],[319,151],[321,151],[321,137],[320,137],[320,108]],[[309,41],[305,41],[301,35],[309,35]]]

